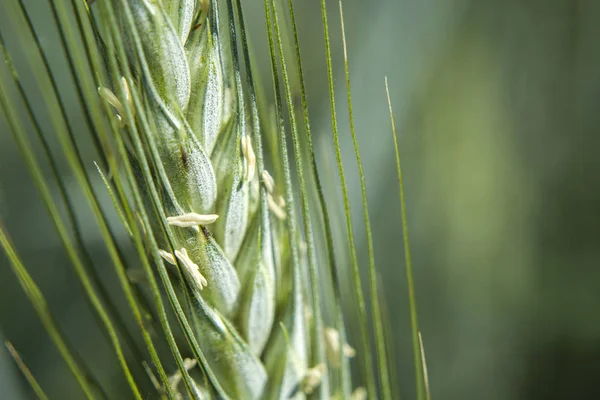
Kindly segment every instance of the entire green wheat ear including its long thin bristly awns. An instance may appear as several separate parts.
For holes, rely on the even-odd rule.
[[[8,73],[0,75],[0,106],[91,310],[112,344],[131,389],[128,395],[147,397],[142,394],[146,393],[144,383],[137,378],[137,372],[144,369],[153,383],[153,398],[397,398],[392,382],[398,377],[391,374],[395,371],[394,361],[386,355],[392,338],[385,335],[377,297],[366,186],[345,56],[350,133],[361,178],[369,248],[372,321],[366,316],[359,279],[339,147],[325,1],[321,1],[321,7],[333,138],[348,234],[347,248],[339,249],[334,248],[330,205],[323,194],[313,150],[292,0],[286,5],[264,0],[275,94],[272,106],[265,106],[264,99],[257,96],[263,88],[257,88],[253,79],[241,0],[98,0],[93,4],[72,0],[69,5],[63,0],[48,1],[68,57],[69,72],[76,82],[84,120],[101,156],[96,167],[136,250],[135,265],[126,262],[118,250],[86,173],[91,161],[83,159],[77,147],[59,88],[21,2],[10,1],[4,7],[22,46],[33,50],[27,52],[28,61],[62,154],[54,154],[47,144],[43,132],[48,128],[41,129],[36,110],[23,90],[2,39],[3,30],[0,45]],[[281,13],[284,8],[285,16]],[[284,56],[282,16],[289,18],[292,27],[298,71],[295,77],[288,74]],[[227,21],[226,26],[222,20]],[[343,43],[346,54],[345,36]],[[300,88],[304,135],[296,121],[292,82]],[[15,88],[17,101],[10,98]],[[61,188],[59,202],[50,194],[49,185],[54,183],[41,173],[18,117],[17,104],[21,102],[53,168],[52,178]],[[273,114],[275,124],[270,117]],[[393,132],[396,140],[395,125]],[[288,139],[293,149],[290,155]],[[69,196],[55,168],[57,157],[66,158],[85,194],[138,332],[124,328],[111,294],[90,261]],[[310,171],[312,180],[306,179],[305,171]],[[429,388],[416,318],[399,158],[398,174],[417,397],[424,399]],[[297,189],[293,175],[297,177]],[[313,192],[318,198],[316,204],[310,201]],[[61,202],[68,211],[66,216],[58,211]],[[321,246],[315,240],[318,234],[326,238]],[[94,378],[93,363],[73,355],[1,226],[0,242],[82,394],[90,399],[106,397],[105,389]],[[342,314],[339,286],[347,268],[335,257],[340,251],[349,251],[358,299],[361,342],[356,358],[359,361],[352,362],[356,351],[346,343],[347,317]],[[318,264],[320,252],[326,254],[326,265]],[[371,324],[376,367],[370,355]],[[35,392],[45,398],[16,351],[9,348]],[[136,357],[126,358],[125,348]]]

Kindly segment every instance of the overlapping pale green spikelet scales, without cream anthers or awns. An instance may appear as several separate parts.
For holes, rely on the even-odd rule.
[[[290,265],[286,225],[269,211],[259,173],[249,171],[242,138],[254,133],[238,107],[244,99],[235,96],[217,10],[208,0],[128,3],[143,46],[126,24],[122,35],[132,59],[147,66],[138,76],[166,209],[219,215],[207,227],[172,228],[176,249],[186,249],[208,283],[200,291],[184,270],[182,299],[206,356],[202,367],[222,388],[219,397],[302,398],[309,347],[302,279]]]

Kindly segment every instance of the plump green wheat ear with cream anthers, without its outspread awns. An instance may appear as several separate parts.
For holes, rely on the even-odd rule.
[[[113,7],[130,69],[119,72],[131,80],[99,93],[124,129],[130,123],[145,131],[151,184],[166,216],[156,216],[153,231],[166,265],[182,278],[179,299],[208,377],[195,385],[232,399],[303,398],[327,388],[325,363],[310,365],[312,289],[303,278],[291,188],[265,169],[263,126],[246,100],[236,32],[226,44],[216,2]],[[142,187],[149,183],[140,179]],[[160,233],[164,222],[168,231]]]

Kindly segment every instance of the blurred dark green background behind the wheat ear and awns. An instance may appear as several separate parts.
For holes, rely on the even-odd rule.
[[[75,126],[83,129],[47,4],[26,3]],[[267,57],[262,2],[244,3],[261,64]],[[332,208],[341,209],[320,8],[316,0],[296,3],[320,162],[329,171]],[[360,187],[343,112],[338,5],[328,4],[342,150],[366,266]],[[414,384],[385,76],[401,135],[433,398],[600,398],[600,2],[345,0],[344,11],[377,266],[403,398],[414,398]],[[0,26],[4,18],[0,13]],[[270,82],[264,65],[263,80]],[[83,203],[76,189],[72,194]],[[83,206],[78,212],[94,259],[110,270],[89,212]],[[114,398],[125,396],[118,365],[2,118],[0,217],[82,358],[114,382]],[[117,292],[114,277],[104,278]],[[4,254],[0,337],[15,344],[51,396],[77,396]],[[4,349],[0,388],[2,398],[33,398]]]

